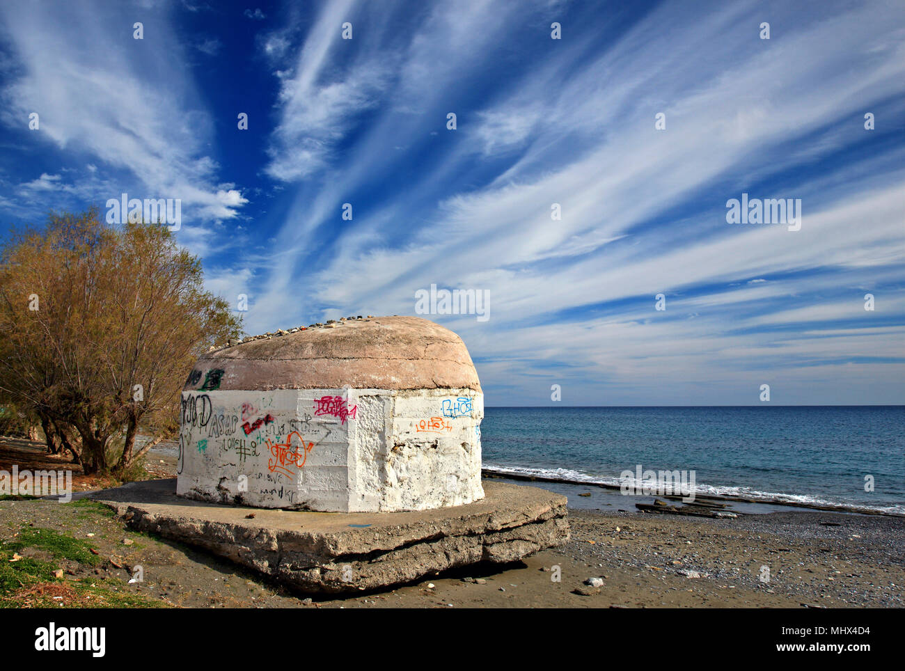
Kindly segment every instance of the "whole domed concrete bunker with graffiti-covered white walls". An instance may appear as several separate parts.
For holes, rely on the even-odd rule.
[[[342,513],[484,496],[483,392],[462,338],[420,317],[342,324],[198,359],[182,393],[179,496]]]

